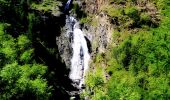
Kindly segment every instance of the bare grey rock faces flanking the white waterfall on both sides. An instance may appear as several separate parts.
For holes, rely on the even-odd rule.
[[[78,3],[79,6],[82,6],[83,0],[75,0],[74,3]],[[76,13],[70,13],[70,15],[75,15]],[[112,31],[111,25],[109,24],[108,17],[104,13],[100,13],[99,15],[96,15],[96,19],[98,20],[96,26],[92,26],[88,23],[83,24],[82,26],[77,26],[82,28],[82,31],[85,33],[85,37],[88,43],[89,52],[92,52],[92,56],[94,56],[97,53],[105,52],[109,42],[111,41],[111,34]],[[60,55],[62,57],[62,60],[66,63],[67,67],[70,68],[70,59],[72,57],[72,39],[73,39],[73,25],[76,23],[70,23],[66,16],[66,23],[65,26],[62,28],[62,33],[59,37],[56,38],[57,45],[59,48]],[[71,31],[70,31],[71,30]]]

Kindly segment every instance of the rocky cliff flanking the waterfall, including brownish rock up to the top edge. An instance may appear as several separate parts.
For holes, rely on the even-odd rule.
[[[109,16],[107,16],[104,12],[98,12],[101,1],[80,1],[76,0],[73,3],[78,4],[81,10],[84,10],[88,16],[88,14],[92,14],[95,16],[93,20],[96,20],[97,25],[91,25],[90,23],[84,23],[81,25],[82,31],[85,34],[89,52],[92,53],[92,56],[95,56],[97,53],[105,52],[107,46],[110,41],[112,41],[112,25],[110,24]],[[94,7],[91,10],[86,7]],[[97,8],[96,8],[97,7]],[[80,10],[80,9],[79,9]],[[72,16],[78,16],[75,12],[71,12]],[[60,55],[62,57],[63,62],[66,63],[67,68],[70,68],[71,56],[72,56],[72,47],[71,47],[71,33],[70,26],[66,21],[65,26],[62,28],[61,35],[56,38],[57,46],[59,48]]]

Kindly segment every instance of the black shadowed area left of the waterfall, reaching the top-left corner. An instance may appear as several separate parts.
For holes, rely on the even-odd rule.
[[[41,0],[37,1],[40,2]],[[65,25],[65,14],[54,16],[51,13],[30,9],[27,4],[18,5],[18,8],[16,6],[12,5],[11,8],[8,8],[8,6],[6,8],[0,7],[0,11],[3,11],[0,13],[0,21],[10,23],[6,30],[13,37],[17,38],[24,34],[32,41],[36,63],[48,67],[45,78],[48,85],[53,88],[50,100],[69,100],[69,92],[77,89],[71,85],[72,81],[68,77],[69,69],[61,61],[59,48],[56,45],[56,36],[60,36],[61,28]],[[60,9],[62,11],[64,7],[62,6]],[[19,10],[23,12],[22,16]],[[30,18],[31,21],[28,14],[33,14],[33,17]],[[36,94],[32,94],[31,90],[22,94],[24,95],[20,96],[22,100],[36,99]],[[15,100],[15,97],[13,99]]]

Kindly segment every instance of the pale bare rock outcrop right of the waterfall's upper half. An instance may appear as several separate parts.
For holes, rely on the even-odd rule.
[[[88,23],[83,25],[83,31],[91,41],[93,54],[105,52],[112,37],[112,26],[109,23],[109,17],[101,13],[96,15],[95,20],[97,20],[96,26],[91,26]]]

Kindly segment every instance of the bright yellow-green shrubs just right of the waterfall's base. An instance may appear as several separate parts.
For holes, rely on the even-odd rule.
[[[98,54],[96,57],[95,70],[91,70],[86,78],[86,91],[82,94],[82,97],[90,97],[91,100],[107,100],[105,86],[104,68],[101,66],[102,54]],[[93,94],[93,95],[92,95]]]

